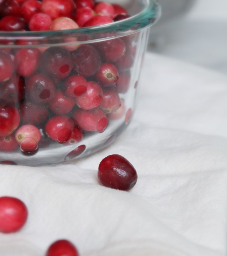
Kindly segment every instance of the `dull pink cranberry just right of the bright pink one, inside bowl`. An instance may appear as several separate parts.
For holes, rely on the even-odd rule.
[[[103,100],[100,104],[105,113],[116,111],[120,107],[120,97],[116,91],[106,89],[103,91]]]

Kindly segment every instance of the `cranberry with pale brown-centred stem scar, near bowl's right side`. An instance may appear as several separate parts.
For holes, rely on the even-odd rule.
[[[119,73],[114,64],[102,63],[95,77],[96,81],[104,87],[111,87],[118,81]]]

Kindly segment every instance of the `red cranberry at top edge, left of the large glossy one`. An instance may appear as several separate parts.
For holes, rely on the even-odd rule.
[[[26,0],[21,6],[23,18],[26,22],[29,22],[31,17],[40,12],[41,1],[38,0]]]

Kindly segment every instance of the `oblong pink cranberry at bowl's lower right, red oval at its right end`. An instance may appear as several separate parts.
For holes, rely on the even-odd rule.
[[[74,112],[73,118],[82,130],[88,132],[103,132],[108,125],[108,119],[100,108],[92,110],[78,109]]]

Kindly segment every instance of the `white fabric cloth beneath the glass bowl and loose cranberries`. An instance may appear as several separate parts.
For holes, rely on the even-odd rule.
[[[29,218],[0,234],[0,256],[42,256],[56,239],[81,256],[224,256],[227,77],[147,53],[127,130],[92,156],[46,167],[1,165],[0,195]],[[137,169],[129,191],[98,184],[99,162],[121,154]]]

